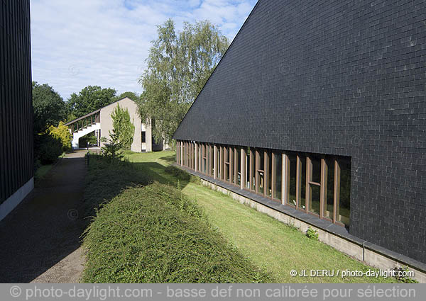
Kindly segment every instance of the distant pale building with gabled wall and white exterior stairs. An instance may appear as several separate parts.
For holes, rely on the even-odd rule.
[[[65,125],[70,127],[73,136],[72,148],[78,149],[80,147],[79,140],[92,132],[97,137],[98,145],[104,146],[101,138],[109,138],[109,132],[113,129],[111,114],[117,106],[129,110],[131,123],[135,126],[133,143],[131,144],[133,152],[163,150],[163,144],[156,144],[153,140],[151,123],[142,123],[138,114],[138,105],[128,97],[66,123]]]

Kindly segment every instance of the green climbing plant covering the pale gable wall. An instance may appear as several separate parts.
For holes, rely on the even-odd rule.
[[[113,120],[113,132],[109,132],[111,139],[116,137],[114,139],[118,140],[122,148],[131,149],[133,135],[135,134],[135,126],[131,123],[129,110],[127,110],[127,108],[121,108],[121,106],[118,105],[111,113],[111,118]]]

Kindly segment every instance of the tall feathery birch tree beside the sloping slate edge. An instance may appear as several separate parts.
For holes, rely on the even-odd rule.
[[[181,33],[175,33],[171,19],[158,26],[148,68],[139,79],[144,92],[138,101],[142,120],[155,120],[157,142],[170,142],[228,46],[228,39],[209,21],[185,23]]]

